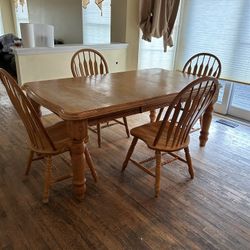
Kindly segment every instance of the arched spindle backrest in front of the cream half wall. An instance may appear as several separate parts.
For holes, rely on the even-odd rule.
[[[74,77],[106,74],[108,64],[97,50],[81,49],[71,59],[71,72]]]

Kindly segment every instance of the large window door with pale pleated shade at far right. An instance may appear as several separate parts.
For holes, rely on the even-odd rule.
[[[222,88],[217,112],[249,120],[250,106],[250,1],[183,1],[176,68],[192,55],[215,54],[222,63]],[[246,83],[246,84],[240,84]]]

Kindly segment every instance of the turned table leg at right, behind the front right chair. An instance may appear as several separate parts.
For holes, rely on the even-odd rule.
[[[204,147],[208,140],[209,128],[212,121],[213,103],[211,103],[202,118],[201,132],[200,132],[200,146]]]

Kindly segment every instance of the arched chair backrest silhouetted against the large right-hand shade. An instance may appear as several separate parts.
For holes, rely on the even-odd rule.
[[[197,76],[220,77],[221,62],[218,57],[210,53],[193,55],[184,65],[183,72]]]

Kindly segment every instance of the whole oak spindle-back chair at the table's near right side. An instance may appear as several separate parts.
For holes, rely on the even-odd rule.
[[[216,78],[198,78],[179,92],[167,107],[163,119],[133,128],[130,133],[134,138],[123,163],[122,171],[131,161],[135,166],[155,177],[155,196],[157,197],[160,191],[162,152],[165,152],[187,163],[189,174],[193,179],[194,170],[189,153],[189,133],[208,105],[214,101],[217,92],[218,80]],[[154,172],[143,165],[151,161],[152,157],[140,162],[131,158],[138,139],[144,141],[149,149],[155,151],[156,165]],[[182,149],[185,151],[186,159],[175,153]]]

